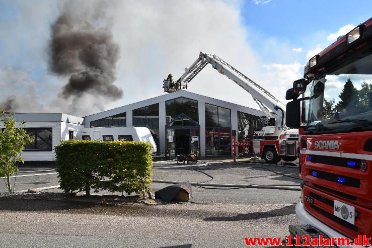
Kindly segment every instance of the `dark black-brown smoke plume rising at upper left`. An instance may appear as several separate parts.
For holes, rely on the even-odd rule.
[[[123,91],[113,84],[115,63],[119,59],[119,47],[113,41],[108,27],[92,24],[100,18],[100,10],[85,20],[84,12],[77,12],[67,4],[52,25],[51,70],[67,76],[60,97],[81,97],[84,93],[110,100],[123,96]],[[87,15],[88,18],[89,15]]]

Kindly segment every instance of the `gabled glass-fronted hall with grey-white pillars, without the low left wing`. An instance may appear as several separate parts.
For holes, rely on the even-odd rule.
[[[160,153],[231,156],[233,130],[243,140],[260,128],[260,116],[260,110],[177,91],[86,116],[84,125],[147,127]]]

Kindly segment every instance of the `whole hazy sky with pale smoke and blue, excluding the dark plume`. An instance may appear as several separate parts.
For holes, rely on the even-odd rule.
[[[180,76],[199,51],[217,54],[283,100],[310,56],[372,17],[366,0],[109,1],[105,15],[121,57],[115,85],[124,97],[112,102],[87,93],[62,101],[68,78],[51,73],[48,63],[50,26],[63,2],[0,0],[0,104],[16,96],[23,100],[19,111],[76,115],[118,107],[164,94],[163,78]],[[96,2],[69,4],[89,11]],[[188,90],[258,109],[240,87],[207,67]]]

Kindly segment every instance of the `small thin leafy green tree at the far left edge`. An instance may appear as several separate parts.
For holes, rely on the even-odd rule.
[[[4,125],[0,125],[0,177],[6,177],[5,184],[9,193],[14,191],[16,185],[15,180],[12,190],[10,177],[18,171],[19,163],[24,162],[21,152],[26,144],[32,142],[26,130],[23,129],[26,122],[22,121],[17,127],[16,120],[14,112],[9,114],[4,110],[0,110],[0,121],[4,122]]]

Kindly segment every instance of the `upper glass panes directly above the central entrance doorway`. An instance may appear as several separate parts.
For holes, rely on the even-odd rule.
[[[180,114],[189,116],[192,120],[198,122],[198,101],[180,97],[166,101],[166,122],[170,123],[175,117]]]

